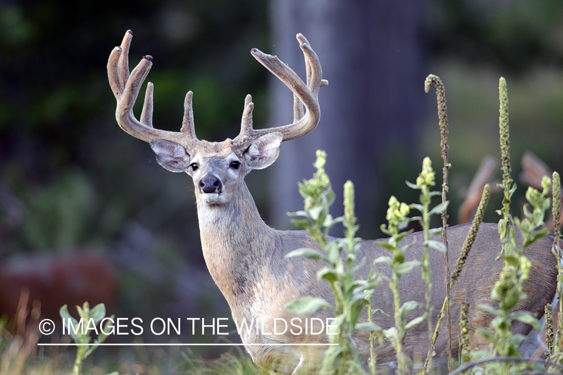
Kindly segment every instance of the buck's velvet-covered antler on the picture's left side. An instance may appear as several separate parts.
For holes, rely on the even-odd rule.
[[[168,132],[153,128],[153,92],[154,85],[148,83],[145,93],[145,101],[141,114],[141,121],[133,115],[133,105],[137,99],[142,83],[149,74],[153,65],[150,55],[144,56],[139,64],[129,74],[129,46],[133,33],[127,30],[120,47],[111,51],[108,60],[108,78],[111,89],[117,100],[115,118],[120,128],[127,133],[150,142],[152,139],[166,139],[182,144],[191,149],[198,142],[195,137],[193,126],[193,111],[191,111],[191,92],[186,96],[186,109],[184,114],[184,125],[182,132]],[[188,98],[189,96],[189,98]],[[187,120],[186,120],[187,119]],[[186,125],[187,124],[187,125]]]

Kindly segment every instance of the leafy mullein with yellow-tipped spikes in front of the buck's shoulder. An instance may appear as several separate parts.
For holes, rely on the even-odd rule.
[[[360,238],[355,237],[358,231],[354,216],[354,184],[350,181],[344,185],[344,216],[333,218],[329,214],[329,207],[334,202],[334,192],[330,187],[330,180],[325,173],[324,165],[327,154],[317,151],[314,163],[316,173],[313,178],[305,180],[299,185],[300,193],[305,201],[305,209],[291,216],[301,216],[293,219],[297,227],[304,228],[311,237],[323,246],[324,252],[312,249],[297,249],[286,257],[306,256],[310,259],[322,260],[326,266],[317,273],[318,278],[325,279],[334,293],[334,305],[320,297],[303,297],[285,305],[285,308],[296,314],[312,314],[318,309],[330,309],[336,320],[333,328],[337,335],[329,335],[331,344],[325,352],[321,373],[324,374],[356,374],[363,373],[358,353],[352,345],[352,335],[356,329],[374,332],[381,337],[381,328],[372,322],[358,323],[361,311],[367,304],[367,299],[378,280],[356,280],[354,273],[361,268],[365,261],[356,263]],[[345,228],[345,238],[328,241],[328,232],[334,224],[342,222]]]

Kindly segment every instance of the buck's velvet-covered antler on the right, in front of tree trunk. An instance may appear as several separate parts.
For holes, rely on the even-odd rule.
[[[307,67],[307,83],[303,83],[301,78],[287,65],[279,60],[278,57],[266,55],[256,48],[253,48],[251,53],[256,60],[266,67],[272,74],[278,77],[287,87],[294,93],[293,114],[294,121],[292,124],[279,126],[277,128],[269,129],[249,129],[248,133],[241,133],[234,139],[233,142],[244,144],[243,139],[252,141],[264,134],[279,132],[283,134],[283,141],[291,141],[292,139],[300,138],[303,135],[315,129],[319,123],[320,109],[318,102],[318,94],[321,86],[328,84],[326,80],[321,79],[322,70],[320,67],[319,58],[316,53],[309,46],[307,39],[301,34],[297,34],[297,40],[300,42],[300,47],[305,55],[305,65]],[[303,109],[301,103],[307,108],[305,116],[303,116]],[[301,107],[301,108],[300,108]],[[246,128],[248,129],[248,128]]]

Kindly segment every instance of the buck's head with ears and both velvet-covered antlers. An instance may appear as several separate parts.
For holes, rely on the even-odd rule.
[[[127,133],[149,142],[157,154],[157,162],[172,172],[187,172],[194,180],[198,203],[222,205],[229,202],[244,176],[252,169],[263,169],[279,155],[283,141],[302,137],[319,123],[318,93],[328,84],[321,79],[319,58],[307,39],[297,34],[297,40],[305,55],[307,84],[276,56],[266,55],[253,48],[256,60],[277,76],[294,93],[294,120],[292,124],[270,129],[252,128],[254,103],[248,95],[240,133],[234,139],[223,142],[200,141],[195,135],[192,96],[186,94],[184,121],[180,132],[168,132],[153,128],[153,84],[149,82],[140,121],[133,115],[133,105],[141,85],[153,65],[153,58],[144,56],[129,74],[129,46],[133,33],[128,30],[120,47],[115,47],[108,61],[111,89],[117,99],[115,117]],[[303,112],[303,105],[306,112]]]

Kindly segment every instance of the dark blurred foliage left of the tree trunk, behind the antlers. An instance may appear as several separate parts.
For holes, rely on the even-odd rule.
[[[146,201],[168,188],[156,168],[137,174],[137,165],[146,169],[149,148],[115,124],[109,52],[132,29],[131,69],[143,54],[154,57],[155,126],[179,129],[191,89],[198,136],[233,137],[247,93],[262,101],[257,126],[265,120],[266,72],[249,51],[266,43],[266,6],[255,0],[2,4],[0,186],[23,202],[26,218],[0,255],[107,245],[128,220],[166,231],[164,213],[143,216]],[[196,223],[193,208],[188,222]],[[190,237],[199,237],[193,229]]]

